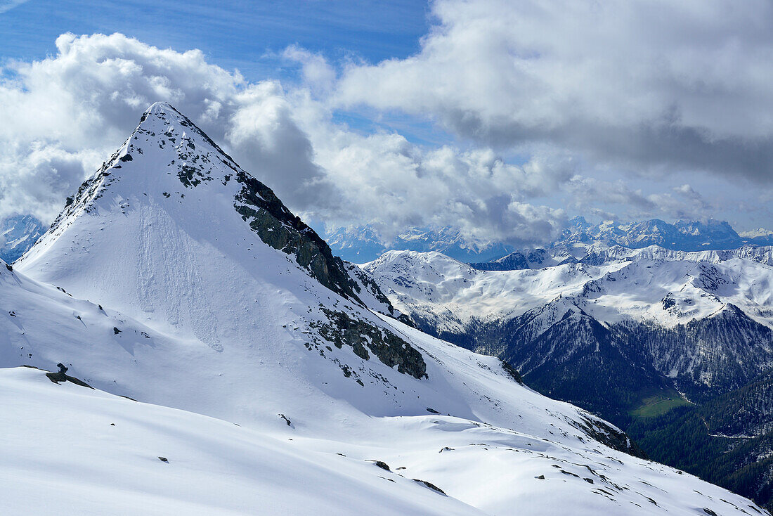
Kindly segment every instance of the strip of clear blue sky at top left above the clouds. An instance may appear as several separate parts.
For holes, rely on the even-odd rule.
[[[220,66],[260,80],[292,73],[273,55],[293,44],[334,59],[409,56],[419,50],[428,16],[425,2],[410,1],[29,0],[0,15],[0,49],[4,58],[33,60],[56,53],[63,32],[123,32],[162,48],[203,50]]]

